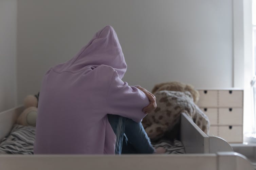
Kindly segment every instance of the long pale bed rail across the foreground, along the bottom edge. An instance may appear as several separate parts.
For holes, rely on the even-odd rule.
[[[253,170],[236,152],[216,154],[137,154],[137,155],[0,155],[1,169],[17,170]]]

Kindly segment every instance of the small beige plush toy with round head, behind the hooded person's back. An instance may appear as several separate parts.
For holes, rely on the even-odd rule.
[[[39,93],[37,95],[28,95],[23,104],[25,110],[19,115],[17,123],[23,126],[36,126],[37,105]]]

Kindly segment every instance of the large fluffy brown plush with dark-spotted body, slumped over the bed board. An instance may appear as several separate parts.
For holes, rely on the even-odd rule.
[[[142,121],[151,140],[158,140],[170,132],[180,122],[182,112],[208,134],[209,119],[195,104],[199,93],[193,86],[180,82],[160,83],[153,88],[152,93],[156,96],[157,108]]]

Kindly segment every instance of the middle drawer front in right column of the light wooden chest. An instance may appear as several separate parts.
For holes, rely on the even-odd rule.
[[[242,125],[242,108],[219,108],[219,125]]]

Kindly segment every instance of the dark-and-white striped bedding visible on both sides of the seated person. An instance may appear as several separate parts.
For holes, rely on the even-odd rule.
[[[1,141],[0,154],[33,154],[35,130],[33,126],[15,124],[11,133]],[[154,147],[164,147],[166,154],[185,153],[182,143],[178,140],[173,142],[160,140],[157,143],[152,143],[152,145]]]

